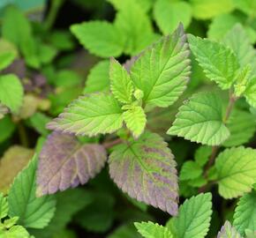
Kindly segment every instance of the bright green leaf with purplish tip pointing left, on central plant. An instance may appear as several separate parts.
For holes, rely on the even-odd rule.
[[[122,127],[122,112],[112,95],[87,94],[74,100],[64,113],[48,123],[48,128],[90,137],[112,133]]]

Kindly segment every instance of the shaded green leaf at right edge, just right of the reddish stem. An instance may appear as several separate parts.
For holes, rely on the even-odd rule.
[[[250,141],[256,131],[254,116],[242,110],[234,110],[227,123],[230,138],[224,141],[226,147],[243,145]]]

